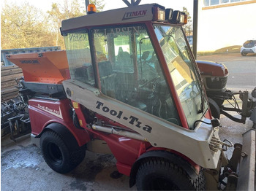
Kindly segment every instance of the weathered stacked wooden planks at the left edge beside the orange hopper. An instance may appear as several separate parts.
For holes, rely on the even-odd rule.
[[[23,73],[18,66],[1,66],[1,102],[18,96],[15,79],[20,77],[23,77]]]

